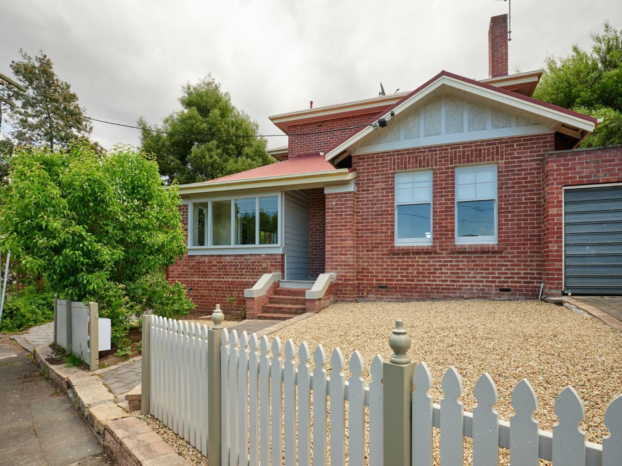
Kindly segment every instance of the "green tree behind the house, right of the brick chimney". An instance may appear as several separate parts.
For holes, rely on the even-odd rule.
[[[590,50],[547,57],[534,98],[603,119],[581,147],[622,144],[622,34],[605,21],[590,37]]]

